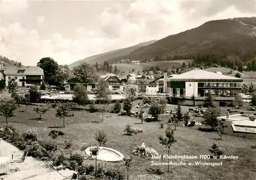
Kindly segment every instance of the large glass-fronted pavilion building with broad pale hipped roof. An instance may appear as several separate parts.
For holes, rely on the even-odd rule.
[[[173,103],[178,100],[182,104],[193,105],[191,97],[195,96],[195,105],[202,105],[209,93],[217,105],[226,106],[234,100],[236,93],[240,94],[243,79],[207,72],[192,70],[167,80],[167,93]]]

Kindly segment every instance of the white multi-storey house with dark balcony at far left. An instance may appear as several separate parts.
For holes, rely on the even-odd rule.
[[[36,85],[40,86],[44,77],[44,70],[37,66],[9,66],[4,71],[6,86],[8,81],[14,79],[18,86]]]

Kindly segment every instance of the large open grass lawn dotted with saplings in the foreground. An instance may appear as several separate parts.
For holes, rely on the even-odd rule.
[[[168,107],[171,107],[169,105]],[[62,126],[62,120],[55,117],[55,109],[51,109],[43,116],[42,122],[38,122],[37,114],[32,110],[34,106],[28,106],[29,113],[20,112],[25,107],[19,107],[16,110],[16,117],[9,119],[9,125],[16,127],[20,132],[25,132],[28,129],[33,129],[38,133],[38,137],[43,141],[52,141],[48,136],[50,130],[54,126]],[[183,107],[184,112],[187,107]],[[135,109],[134,109],[135,110]],[[224,109],[223,109],[224,111]],[[164,118],[165,127],[167,124],[167,117]],[[143,122],[133,117],[117,116],[112,114],[105,114],[104,121],[100,122],[101,115],[88,113],[86,111],[75,111],[73,117],[68,117],[65,128],[58,128],[65,132],[64,136],[57,138],[56,142],[60,147],[64,147],[65,140],[73,141],[73,150],[79,151],[82,143],[92,142],[96,145],[94,140],[94,133],[97,130],[104,130],[108,134],[109,141],[105,144],[106,147],[114,148],[124,156],[132,155],[132,150],[137,146],[145,143],[146,147],[154,148],[159,154],[166,154],[167,149],[159,144],[158,135],[164,135],[164,128],[159,128],[159,122]],[[198,119],[200,121],[200,119]],[[5,118],[0,117],[1,125],[5,124]],[[142,133],[133,136],[125,136],[123,134],[124,126],[129,123],[134,127],[143,128]],[[181,123],[183,124],[183,123]],[[226,130],[229,134],[231,127]],[[142,159],[138,156],[133,156],[134,163],[131,169],[130,179],[152,179],[153,174],[148,174],[147,168],[159,168],[165,173],[160,175],[160,179],[255,179],[256,174],[256,149],[251,146],[255,145],[256,136],[250,134],[245,136],[247,138],[224,136],[222,141],[216,140],[218,135],[215,132],[202,132],[197,130],[197,127],[178,126],[175,131],[175,138],[177,143],[171,148],[172,155],[203,155],[209,154],[208,149],[213,143],[226,149],[226,155],[238,156],[238,160],[172,160],[173,162],[223,162],[222,166],[171,166],[170,172],[167,173],[167,166],[151,166],[152,161],[166,162],[167,160],[152,160]],[[84,163],[94,163],[93,160],[86,160]],[[108,163],[109,167],[118,165],[124,167],[121,163]]]

